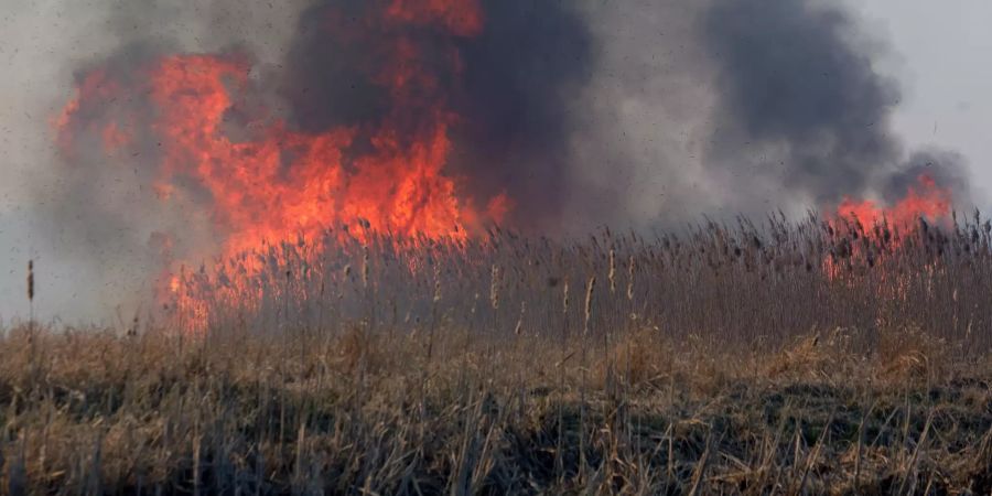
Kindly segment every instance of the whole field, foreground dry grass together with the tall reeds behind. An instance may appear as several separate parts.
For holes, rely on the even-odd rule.
[[[328,231],[0,341],[10,494],[989,494],[992,237]]]

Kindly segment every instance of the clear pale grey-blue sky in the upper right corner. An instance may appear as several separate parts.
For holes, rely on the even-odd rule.
[[[909,144],[932,143],[964,154],[979,188],[975,203],[988,212],[992,205],[992,2],[861,0],[852,4],[893,48],[885,69],[903,86],[895,130]]]

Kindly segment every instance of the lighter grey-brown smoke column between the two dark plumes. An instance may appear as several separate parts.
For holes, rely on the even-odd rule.
[[[701,213],[734,215],[702,166],[714,106],[710,57],[699,42],[703,3],[580,4],[594,63],[569,114],[569,227],[653,229]]]

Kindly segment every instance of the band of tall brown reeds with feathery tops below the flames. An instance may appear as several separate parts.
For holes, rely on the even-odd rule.
[[[978,215],[898,228],[741,219],[572,241],[328,231],[216,267],[184,270],[165,324],[215,334],[341,333],[363,322],[386,333],[448,325],[567,336],[634,325],[721,343],[843,327],[860,330],[866,346],[880,326],[912,325],[970,351],[992,346],[992,225]]]

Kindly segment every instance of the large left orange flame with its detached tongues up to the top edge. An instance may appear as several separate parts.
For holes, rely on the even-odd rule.
[[[476,1],[392,0],[384,19],[440,23],[456,35],[482,30]],[[191,179],[204,187],[213,219],[226,234],[225,255],[250,250],[262,239],[315,237],[359,218],[375,230],[430,238],[462,237],[479,231],[484,222],[500,222],[506,198],[490,198],[479,209],[460,191],[460,181],[444,173],[457,116],[443,103],[421,108],[418,93],[436,85],[422,54],[402,36],[388,43],[389,64],[376,78],[389,88],[397,111],[381,123],[314,134],[290,130],[280,119],[256,119],[246,127],[250,138],[235,141],[225,132],[226,119],[251,89],[251,65],[231,56],[171,55],[149,64],[138,84],[118,82],[104,69],[89,73],[55,119],[58,142],[69,154],[75,131],[98,125],[108,155],[129,147],[133,137],[126,126],[147,116],[117,115],[100,125],[83,110],[147,95],[155,112],[150,127],[163,150],[153,191],[168,201]],[[413,131],[399,122],[411,106],[429,117]],[[371,152],[352,150],[359,136]]]

